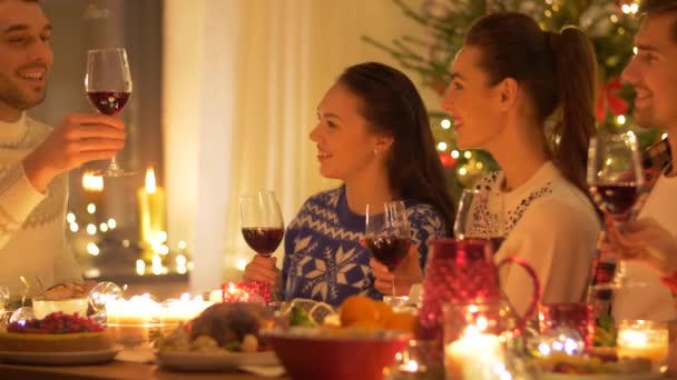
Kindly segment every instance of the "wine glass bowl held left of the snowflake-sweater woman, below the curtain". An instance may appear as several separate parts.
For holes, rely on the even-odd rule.
[[[284,237],[282,210],[269,190],[239,197],[242,234],[256,253],[271,257]]]

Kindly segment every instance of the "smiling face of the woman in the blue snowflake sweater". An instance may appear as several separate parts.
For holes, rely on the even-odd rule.
[[[360,107],[362,100],[341,83],[334,84],[320,102],[318,122],[311,131],[311,140],[317,144],[322,176],[349,182],[369,177],[374,170],[385,170],[381,161],[387,147],[370,131],[366,119],[359,113]]]

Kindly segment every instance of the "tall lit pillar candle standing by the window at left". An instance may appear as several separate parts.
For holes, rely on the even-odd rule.
[[[139,202],[140,241],[148,259],[153,254],[153,249],[163,243],[161,240],[166,233],[165,191],[156,184],[153,168],[146,171],[146,186],[139,189],[137,198]]]

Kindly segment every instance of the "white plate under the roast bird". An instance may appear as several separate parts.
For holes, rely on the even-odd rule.
[[[190,352],[160,351],[157,353],[160,366],[184,371],[233,370],[241,366],[278,366],[274,351],[264,352]]]

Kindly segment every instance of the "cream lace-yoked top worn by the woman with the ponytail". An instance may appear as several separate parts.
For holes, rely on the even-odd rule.
[[[497,262],[513,254],[524,258],[538,273],[544,302],[585,300],[600,229],[592,202],[552,162],[510,192],[501,190],[502,182],[503,173],[494,172],[475,184],[489,201],[479,210],[473,228],[496,237],[504,214],[506,240]],[[500,280],[510,302],[523,313],[532,293],[527,272],[509,264],[501,269]]]

